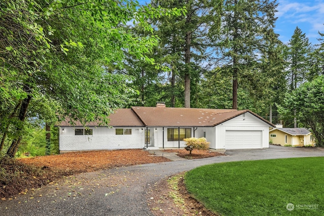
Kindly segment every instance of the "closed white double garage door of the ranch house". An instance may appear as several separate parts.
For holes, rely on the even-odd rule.
[[[262,148],[262,131],[226,131],[225,149]]]

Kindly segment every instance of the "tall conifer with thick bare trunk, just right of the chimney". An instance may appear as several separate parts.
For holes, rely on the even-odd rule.
[[[187,0],[187,1],[152,1],[154,7],[182,8],[187,13],[173,18],[153,19],[161,38],[161,51],[166,58],[166,65],[171,68],[171,87],[176,86],[176,76],[184,82],[184,107],[190,107],[191,76],[196,75],[195,67],[206,59],[208,47],[207,33],[220,24],[221,1]],[[198,72],[199,73],[199,72]],[[172,106],[175,105],[175,91],[171,95]]]

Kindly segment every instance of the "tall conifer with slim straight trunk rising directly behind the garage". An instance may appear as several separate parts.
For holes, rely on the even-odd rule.
[[[233,109],[238,107],[238,80],[255,66],[257,53],[263,46],[265,29],[274,26],[276,7],[276,1],[269,0],[224,2],[220,34],[211,35],[211,38],[217,42],[217,63],[232,76]]]

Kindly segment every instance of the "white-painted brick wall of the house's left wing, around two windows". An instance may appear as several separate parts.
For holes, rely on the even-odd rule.
[[[89,127],[93,129],[91,136],[75,136],[74,128],[83,127],[60,128],[60,151],[139,149],[144,146],[144,133],[141,133],[139,127],[120,127],[132,129],[132,135],[115,135],[115,128]],[[64,129],[64,133],[62,133],[62,129]]]

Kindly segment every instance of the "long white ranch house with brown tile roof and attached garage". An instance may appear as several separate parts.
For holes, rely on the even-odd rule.
[[[89,122],[59,126],[60,151],[182,148],[184,138],[206,137],[211,149],[269,147],[274,125],[250,110],[156,107],[117,109],[109,126]]]

